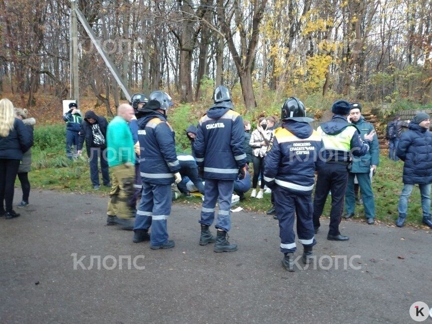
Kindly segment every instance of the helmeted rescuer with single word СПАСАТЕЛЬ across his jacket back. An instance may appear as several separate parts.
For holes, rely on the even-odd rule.
[[[214,252],[232,252],[236,244],[230,244],[226,236],[231,229],[231,195],[234,180],[246,174],[246,154],[243,149],[243,119],[235,112],[230,91],[218,86],[213,92],[214,104],[200,119],[193,148],[196,162],[203,168],[204,201],[202,202],[200,245],[213,243],[208,227],[214,220],[214,208],[219,198],[217,239]]]

